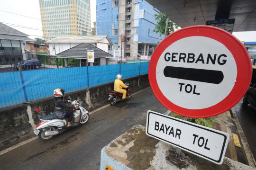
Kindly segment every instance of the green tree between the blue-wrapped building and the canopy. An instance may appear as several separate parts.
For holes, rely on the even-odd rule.
[[[153,31],[155,33],[159,33],[160,35],[165,35],[165,26],[167,19],[168,17],[166,17],[163,13],[155,14],[155,20],[157,21],[157,25],[155,26]],[[179,26],[177,24],[168,19],[166,36],[174,32],[175,29],[177,29],[178,27]]]

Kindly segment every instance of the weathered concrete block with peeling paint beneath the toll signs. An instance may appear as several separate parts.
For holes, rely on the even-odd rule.
[[[255,170],[224,158],[221,165],[184,152],[177,158],[174,148],[149,137],[142,125],[133,126],[101,150],[101,170]]]

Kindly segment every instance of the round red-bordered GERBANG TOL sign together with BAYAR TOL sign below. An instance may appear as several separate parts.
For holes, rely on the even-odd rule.
[[[216,116],[235,106],[251,81],[244,45],[227,31],[192,26],[175,31],[155,49],[148,77],[155,97],[185,117]],[[148,111],[146,134],[221,164],[229,134]]]

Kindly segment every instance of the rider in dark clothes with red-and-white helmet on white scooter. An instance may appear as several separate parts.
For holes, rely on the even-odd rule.
[[[70,102],[70,100],[64,100],[64,92],[65,90],[62,88],[58,88],[54,90],[54,96],[55,96],[55,107],[56,111],[60,112],[66,112],[66,117],[68,117],[68,124],[67,126],[72,126],[72,120],[73,120],[73,109],[75,107],[68,106],[67,103]]]

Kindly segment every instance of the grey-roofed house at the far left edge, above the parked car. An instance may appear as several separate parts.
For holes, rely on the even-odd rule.
[[[0,22],[0,64],[26,60],[23,42],[33,41],[27,36],[27,34]]]

